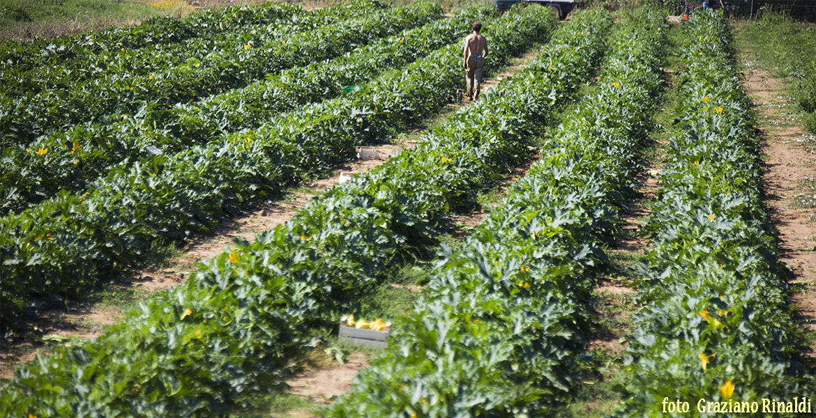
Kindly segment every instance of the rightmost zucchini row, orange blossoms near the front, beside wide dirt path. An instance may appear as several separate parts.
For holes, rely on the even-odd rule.
[[[806,396],[800,334],[761,200],[760,136],[729,25],[716,11],[696,11],[684,39],[681,132],[645,222],[644,306],[628,337],[618,416],[758,416],[770,412],[763,398]]]

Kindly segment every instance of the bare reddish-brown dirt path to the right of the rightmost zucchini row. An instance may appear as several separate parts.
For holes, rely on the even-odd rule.
[[[775,75],[761,51],[740,33],[739,58],[743,64],[743,88],[758,114],[756,127],[763,139],[765,155],[765,205],[771,225],[778,231],[778,249],[782,261],[790,267],[795,288],[792,301],[799,308],[803,326],[816,332],[816,218],[812,207],[800,200],[812,200],[816,178],[816,154],[806,149],[803,128],[790,86]],[[807,355],[816,358],[816,341],[810,338]]]

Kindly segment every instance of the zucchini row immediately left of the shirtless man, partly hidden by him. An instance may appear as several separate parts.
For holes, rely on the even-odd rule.
[[[545,39],[556,24],[535,8],[494,20],[489,68]],[[446,46],[354,95],[260,130],[123,164],[80,196],[60,193],[0,218],[0,275],[8,278],[0,283],[2,325],[20,325],[23,310],[47,299],[81,297],[153,245],[208,231],[249,202],[347,161],[353,147],[432,115],[462,83],[460,54],[459,44]]]

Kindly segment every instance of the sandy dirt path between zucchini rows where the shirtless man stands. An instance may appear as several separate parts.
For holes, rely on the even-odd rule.
[[[504,78],[512,77],[530,63],[539,53],[534,48],[528,54],[512,59],[508,65],[494,74],[488,74],[483,92],[489,91]],[[341,173],[365,173],[388,160],[396,152],[415,147],[420,137],[432,130],[445,117],[455,113],[465,103],[449,103],[442,112],[415,125],[397,138],[385,143],[366,147],[366,152],[378,155],[378,158],[350,161],[336,167],[330,177],[320,178],[301,187],[286,191],[281,200],[272,200],[258,205],[243,213],[242,216],[228,219],[211,234],[197,237],[183,249],[170,249],[166,259],[159,259],[153,265],[140,268],[130,275],[116,279],[105,286],[105,290],[95,295],[98,301],[72,304],[68,310],[47,310],[42,320],[35,325],[34,332],[27,337],[0,346],[0,377],[11,376],[16,364],[33,359],[37,353],[47,354],[54,345],[75,345],[82,340],[95,338],[105,328],[118,322],[126,310],[131,310],[135,303],[145,300],[157,291],[182,284],[200,262],[223,253],[235,239],[253,240],[255,235],[272,230],[277,225],[289,221],[297,211],[304,207],[308,200],[322,196],[327,189],[340,182]],[[533,157],[534,158],[534,157]],[[503,178],[502,183],[512,181],[513,176],[521,175],[517,169],[514,174]],[[473,219],[482,216],[480,211],[456,215],[452,223],[463,225],[474,224]],[[161,257],[161,256],[160,256]]]

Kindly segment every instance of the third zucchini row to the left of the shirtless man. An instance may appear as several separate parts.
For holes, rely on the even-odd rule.
[[[59,127],[82,121],[107,122],[144,108],[170,108],[175,103],[246,86],[266,74],[334,58],[379,37],[399,33],[408,22],[427,23],[440,17],[441,8],[432,2],[416,2],[370,11],[341,3],[326,10],[339,21],[302,33],[276,26],[278,30],[259,32],[261,38],[255,45],[233,44],[229,49],[209,51],[202,59],[190,59],[156,74],[103,73],[66,89],[22,90],[2,96],[2,140],[24,144]],[[357,11],[356,17],[344,19],[348,11]]]

